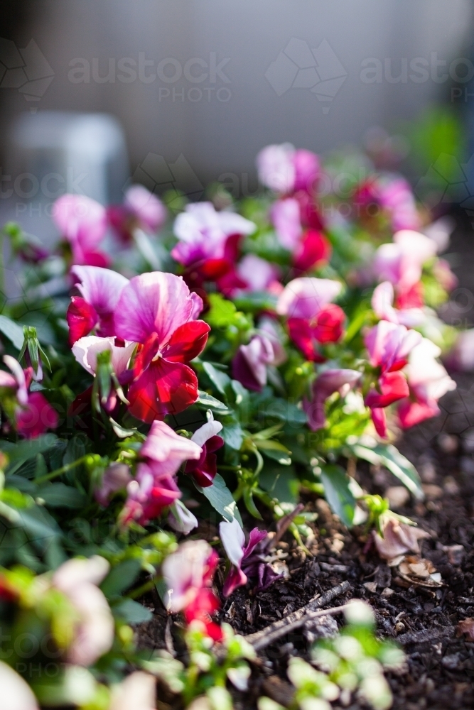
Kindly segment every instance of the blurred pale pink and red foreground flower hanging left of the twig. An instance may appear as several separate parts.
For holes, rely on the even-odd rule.
[[[210,587],[219,557],[205,540],[190,540],[166,557],[161,567],[168,592],[166,606],[171,613],[183,611],[187,623],[198,621],[213,640],[222,630],[210,618],[220,607]]]

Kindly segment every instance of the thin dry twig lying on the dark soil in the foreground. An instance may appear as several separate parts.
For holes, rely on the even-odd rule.
[[[343,611],[343,609],[345,609],[345,605],[323,610],[321,610],[321,607],[325,606],[330,601],[333,601],[336,596],[344,594],[349,589],[349,582],[343,581],[341,584],[333,586],[332,589],[325,591],[321,596],[314,597],[306,604],[306,606],[298,609],[298,611],[293,611],[293,613],[289,614],[284,619],[275,621],[262,630],[257,631],[257,633],[251,633],[244,638],[252,644],[256,651],[262,650],[271,643],[274,643],[274,641],[278,640],[281,636],[289,633],[289,631],[300,628],[309,619],[318,618],[318,616],[327,616],[328,614],[340,613],[340,611]]]

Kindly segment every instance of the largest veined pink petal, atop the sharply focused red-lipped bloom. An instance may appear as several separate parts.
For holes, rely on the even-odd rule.
[[[175,330],[192,320],[197,300],[181,276],[153,271],[135,276],[122,290],[115,310],[117,335],[144,343],[157,333],[164,345]]]

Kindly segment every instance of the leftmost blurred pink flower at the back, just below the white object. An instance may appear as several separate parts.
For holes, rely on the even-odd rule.
[[[72,251],[72,263],[107,266],[109,257],[98,251],[107,231],[107,211],[85,195],[63,195],[53,204],[53,220]]]

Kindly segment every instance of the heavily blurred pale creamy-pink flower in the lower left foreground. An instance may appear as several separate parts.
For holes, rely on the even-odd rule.
[[[89,559],[69,559],[53,574],[55,589],[68,597],[77,618],[68,628],[68,661],[75,665],[92,665],[112,648],[114,618],[107,599],[98,589],[109,572],[109,563],[95,555]]]

